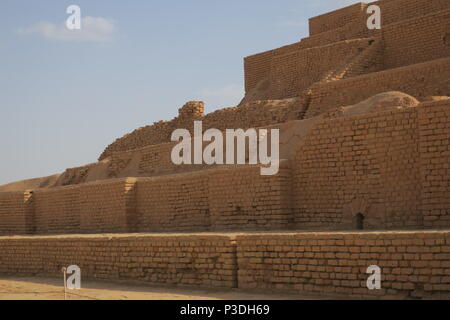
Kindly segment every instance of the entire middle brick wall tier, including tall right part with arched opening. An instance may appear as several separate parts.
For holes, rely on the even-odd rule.
[[[449,110],[447,99],[323,118],[296,144],[284,142],[293,158],[275,176],[258,166],[201,166],[37,190],[27,202],[16,194],[1,232],[353,229],[359,213],[369,229],[448,227]]]

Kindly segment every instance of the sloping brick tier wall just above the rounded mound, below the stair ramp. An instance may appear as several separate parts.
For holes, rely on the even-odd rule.
[[[386,91],[401,91],[423,100],[450,94],[450,58],[385,70],[312,86],[306,118],[339,106],[353,105]]]

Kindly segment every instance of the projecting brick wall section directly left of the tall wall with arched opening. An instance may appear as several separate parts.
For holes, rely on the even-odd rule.
[[[212,230],[288,229],[291,221],[290,170],[261,176],[257,166],[211,171],[209,210]]]

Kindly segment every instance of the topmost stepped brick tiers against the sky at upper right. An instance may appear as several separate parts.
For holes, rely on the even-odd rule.
[[[381,30],[368,30],[366,26],[366,8],[371,4],[381,8]],[[328,78],[328,81],[323,81],[324,79],[317,77],[316,72],[311,73],[315,71],[314,68],[327,67],[331,72],[341,68],[341,64],[351,67],[355,60],[360,59],[359,55],[351,52],[352,44],[363,41],[362,38],[381,39],[379,50],[370,59],[375,66],[365,64],[364,69],[356,74],[349,72],[347,77],[449,57],[450,50],[446,40],[450,38],[449,10],[450,4],[445,0],[377,1],[355,4],[312,18],[310,37],[244,59],[246,92],[251,92],[258,83],[268,79],[269,86],[273,89],[266,95],[267,99],[299,96],[311,84],[319,85],[330,80]],[[347,43],[345,50],[339,49],[340,42]],[[327,52],[327,49],[331,52]],[[314,61],[303,61],[301,58],[309,53],[314,56]],[[331,66],[328,66],[328,62]],[[308,69],[311,66],[313,70]],[[440,79],[442,78],[445,79]],[[400,75],[396,79],[410,82]],[[421,89],[420,82],[413,81],[409,85],[415,91]],[[380,89],[384,86],[386,84],[381,81]],[[297,87],[301,87],[301,90],[295,90]],[[315,87],[311,88],[313,91],[314,89]],[[389,87],[387,90],[395,88]],[[353,91],[357,90],[352,90],[352,93]],[[338,91],[332,93],[339,95]]]

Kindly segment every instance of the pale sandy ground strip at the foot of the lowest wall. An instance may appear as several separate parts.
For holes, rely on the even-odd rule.
[[[64,300],[62,279],[1,278],[0,300]],[[82,282],[80,290],[67,290],[67,300],[318,300],[294,294],[248,292],[238,289],[156,287],[103,281]],[[328,297],[330,298],[330,297]]]

